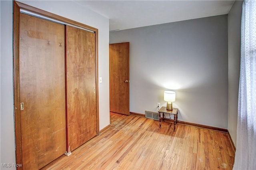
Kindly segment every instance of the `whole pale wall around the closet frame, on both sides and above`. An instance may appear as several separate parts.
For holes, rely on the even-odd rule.
[[[1,163],[15,162],[12,83],[12,1],[1,2]],[[109,20],[74,1],[20,1],[71,20],[98,28],[100,130],[110,124]],[[4,49],[4,50],[3,50]],[[2,169],[2,168],[1,168]],[[10,169],[10,168],[9,168]]]

